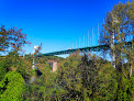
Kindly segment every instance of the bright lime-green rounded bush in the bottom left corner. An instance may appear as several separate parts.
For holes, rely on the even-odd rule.
[[[22,101],[24,80],[15,71],[9,71],[0,81],[0,101]]]

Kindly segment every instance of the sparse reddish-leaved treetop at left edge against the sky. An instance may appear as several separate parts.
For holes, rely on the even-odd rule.
[[[9,47],[11,50],[21,50],[24,44],[31,44],[26,41],[26,34],[22,33],[22,29],[18,30],[18,27],[11,27],[10,30],[5,30],[4,25],[0,27],[0,52],[9,52]]]

